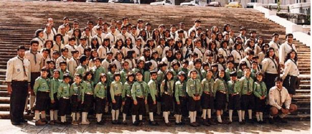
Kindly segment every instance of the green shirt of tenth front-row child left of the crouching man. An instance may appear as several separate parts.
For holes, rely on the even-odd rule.
[[[131,88],[131,96],[133,101],[136,101],[136,96],[144,96],[145,100],[147,100],[148,88],[148,85],[144,81],[134,82]]]

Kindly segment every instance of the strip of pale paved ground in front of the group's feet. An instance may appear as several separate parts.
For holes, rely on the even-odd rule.
[[[289,121],[288,124],[254,124],[239,125],[213,125],[190,127],[166,127],[162,123],[160,126],[144,125],[135,127],[132,125],[112,125],[106,123],[104,126],[92,123],[91,125],[62,126],[45,125],[35,126],[34,122],[28,122],[20,126],[14,126],[10,120],[0,120],[0,133],[310,133],[310,121]]]

